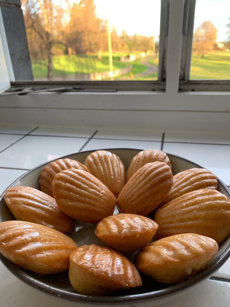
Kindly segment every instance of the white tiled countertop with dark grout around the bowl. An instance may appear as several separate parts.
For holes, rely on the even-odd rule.
[[[161,149],[213,171],[230,187],[230,134],[109,130],[93,127],[0,125],[0,194],[19,176],[41,163],[85,150]],[[0,263],[1,307],[76,306],[43,293],[14,277]],[[162,306],[230,305],[230,259],[212,278]],[[32,305],[31,305],[32,306]],[[86,305],[85,305],[86,306]],[[135,305],[132,305],[135,306]],[[151,306],[151,304],[149,305]]]

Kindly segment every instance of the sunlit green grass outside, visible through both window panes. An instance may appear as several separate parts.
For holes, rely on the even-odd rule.
[[[127,53],[128,54],[128,53]],[[113,70],[127,67],[128,63],[120,61],[120,56],[126,53],[113,54]],[[109,71],[109,56],[108,53],[102,54],[102,59],[98,60],[97,55],[92,56],[76,56],[76,55],[62,55],[54,56],[53,59],[53,76],[67,76],[82,73],[105,72]],[[145,75],[142,77],[136,76],[147,70],[147,66],[140,64],[141,59],[131,62],[132,80],[156,80],[157,76],[154,74]],[[152,65],[158,66],[159,58],[151,58],[148,62]],[[45,60],[39,62],[32,62],[33,76],[47,77],[48,68],[45,65]],[[130,76],[125,74],[116,79],[122,79]],[[208,52],[204,58],[197,59],[196,54],[192,54],[190,67],[191,80],[208,80],[208,79],[230,79],[230,52]]]

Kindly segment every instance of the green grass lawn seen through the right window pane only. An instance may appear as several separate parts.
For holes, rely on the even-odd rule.
[[[197,59],[197,55],[193,53],[190,79],[230,79],[230,52],[213,51],[206,53],[204,58],[200,59]]]

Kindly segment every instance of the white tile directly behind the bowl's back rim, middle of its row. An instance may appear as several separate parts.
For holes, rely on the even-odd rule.
[[[109,148],[136,148],[136,149],[160,149],[161,142],[148,142],[148,141],[126,141],[126,140],[106,140],[106,139],[94,139],[92,138],[84,150],[98,150],[98,149],[109,149]]]

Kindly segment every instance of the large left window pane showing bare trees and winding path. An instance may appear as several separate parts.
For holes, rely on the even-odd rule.
[[[160,0],[22,0],[34,80],[157,80]]]

